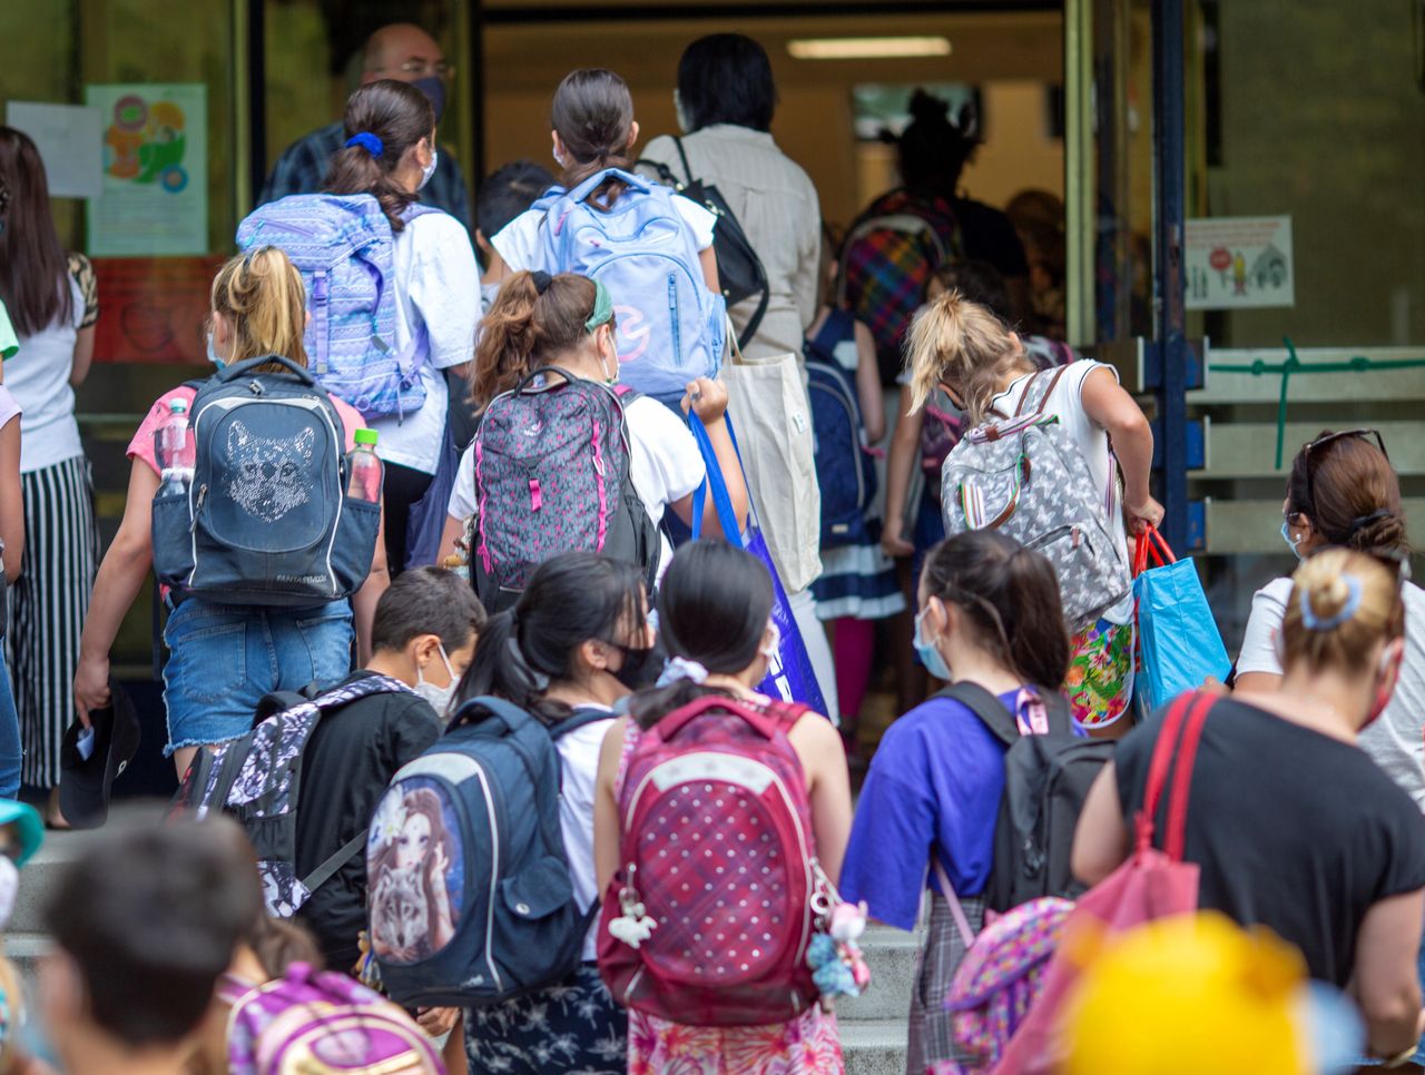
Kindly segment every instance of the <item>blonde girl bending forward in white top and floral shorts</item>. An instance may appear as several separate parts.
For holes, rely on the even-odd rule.
[[[1019,336],[989,308],[950,289],[921,308],[906,336],[911,413],[940,387],[972,426],[1015,413],[1037,366]],[[1049,394],[1046,414],[1083,453],[1107,500],[1114,481],[1110,458],[1123,476],[1121,511],[1112,511],[1110,533],[1127,544],[1127,525],[1141,533],[1163,520],[1163,505],[1149,491],[1153,431],[1139,404],[1119,384],[1112,366],[1080,359],[1064,367]],[[1073,636],[1064,691],[1074,718],[1096,735],[1121,735],[1133,695],[1133,601],[1124,598]]]

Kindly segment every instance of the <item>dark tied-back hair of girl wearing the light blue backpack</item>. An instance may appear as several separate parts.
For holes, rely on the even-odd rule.
[[[633,132],[633,94],[628,84],[613,71],[586,67],[570,71],[554,90],[549,110],[550,127],[564,144],[569,159],[560,179],[566,189],[606,168],[633,167],[628,159],[628,135]],[[589,202],[608,209],[624,184],[610,179],[594,191]]]

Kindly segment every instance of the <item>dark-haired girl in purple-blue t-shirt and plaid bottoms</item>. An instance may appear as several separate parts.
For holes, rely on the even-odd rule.
[[[1047,730],[1046,702],[1069,671],[1059,582],[1039,552],[993,530],[942,541],[925,561],[915,645],[931,673],[973,683],[1015,713],[1020,730]],[[913,930],[926,888],[926,849],[955,887],[970,928],[985,918],[995,820],[1005,790],[1005,745],[963,702],[936,696],[881,740],[861,790],[841,869],[845,900]],[[931,928],[911,1004],[906,1071],[970,1062],[950,1039],[942,1001],[965,944],[940,886],[931,881]]]

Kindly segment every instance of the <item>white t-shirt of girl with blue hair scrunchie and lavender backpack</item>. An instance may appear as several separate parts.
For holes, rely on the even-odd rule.
[[[378,419],[376,451],[388,463],[433,474],[445,434],[447,390],[440,370],[475,357],[480,320],[480,271],[465,226],[449,214],[428,212],[409,221],[392,246],[396,295],[396,347],[422,327],[430,343],[420,367],[426,402],[400,419]]]

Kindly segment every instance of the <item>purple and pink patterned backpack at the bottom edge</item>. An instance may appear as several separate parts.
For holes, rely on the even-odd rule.
[[[435,1042],[353,978],[294,963],[248,985],[224,975],[231,1075],[445,1075]]]

